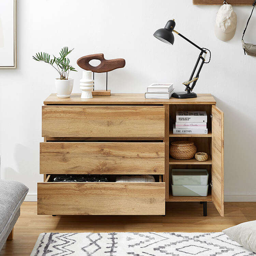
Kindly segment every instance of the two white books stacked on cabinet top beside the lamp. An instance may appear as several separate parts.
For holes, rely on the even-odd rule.
[[[173,84],[151,84],[145,93],[146,99],[170,99],[173,93]]]

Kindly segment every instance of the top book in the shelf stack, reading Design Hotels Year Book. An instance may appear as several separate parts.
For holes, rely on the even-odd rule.
[[[177,123],[207,123],[205,111],[176,111]]]

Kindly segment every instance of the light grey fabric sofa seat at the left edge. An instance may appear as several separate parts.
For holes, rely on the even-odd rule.
[[[27,193],[28,187],[20,182],[0,180],[0,241],[10,230]]]

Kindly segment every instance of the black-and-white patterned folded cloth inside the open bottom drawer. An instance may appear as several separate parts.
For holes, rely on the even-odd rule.
[[[109,175],[105,174],[65,174],[54,178],[54,182],[109,182]]]

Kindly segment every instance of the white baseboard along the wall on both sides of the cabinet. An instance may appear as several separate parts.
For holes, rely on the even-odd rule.
[[[26,202],[37,202],[37,194],[27,194]],[[256,202],[256,194],[232,194],[224,195],[224,202]]]

